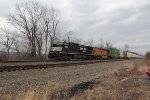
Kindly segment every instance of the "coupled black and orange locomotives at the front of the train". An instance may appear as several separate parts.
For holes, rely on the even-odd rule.
[[[79,45],[73,42],[52,44],[48,58],[50,59],[107,59],[108,50],[91,46]]]

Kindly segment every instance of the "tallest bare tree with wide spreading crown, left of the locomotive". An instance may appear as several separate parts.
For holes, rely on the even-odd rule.
[[[20,33],[23,33],[31,46],[31,56],[36,58],[36,35],[39,21],[43,15],[43,7],[38,2],[28,1],[16,4],[16,13],[9,16],[9,22]]]

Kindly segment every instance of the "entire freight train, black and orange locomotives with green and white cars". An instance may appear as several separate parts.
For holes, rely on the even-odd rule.
[[[51,45],[48,58],[59,60],[99,60],[116,58],[140,58],[140,55],[129,51],[122,51],[116,48],[100,49],[97,47],[80,45],[73,42],[59,42]]]

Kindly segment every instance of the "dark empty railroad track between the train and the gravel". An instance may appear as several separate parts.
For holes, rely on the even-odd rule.
[[[53,67],[64,67],[72,65],[86,65],[102,62],[113,62],[122,61],[124,59],[113,59],[113,60],[91,60],[91,61],[53,61],[53,62],[5,62],[0,64],[0,72],[10,72],[16,70],[29,70],[29,69],[42,69],[42,68],[53,68]]]

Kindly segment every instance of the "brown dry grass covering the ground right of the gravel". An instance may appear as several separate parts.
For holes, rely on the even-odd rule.
[[[72,100],[149,100],[149,80],[139,80],[138,76],[143,75],[147,70],[146,60],[134,65],[125,64],[129,73],[101,79],[100,83],[93,89],[88,89],[72,98]],[[117,73],[112,69],[111,73]]]

